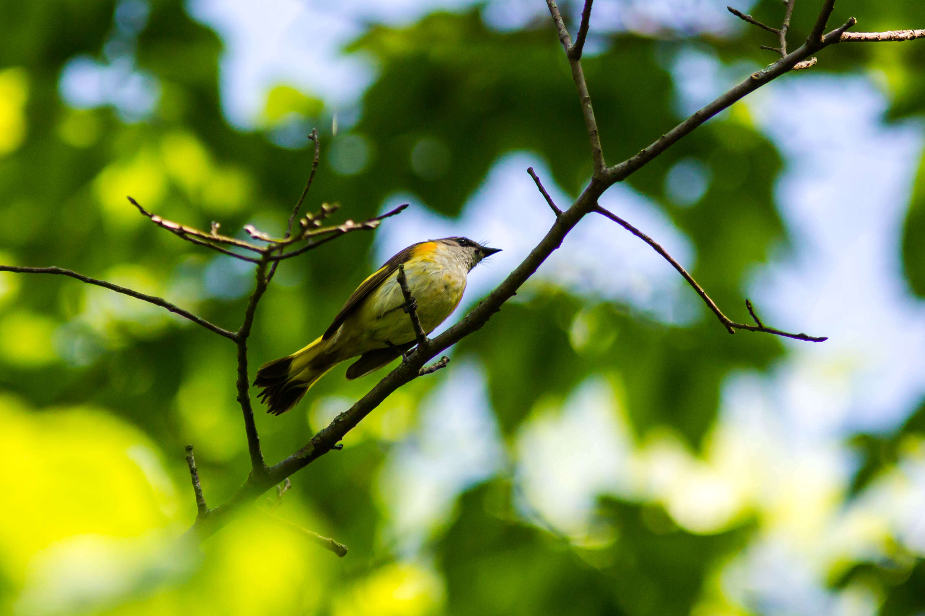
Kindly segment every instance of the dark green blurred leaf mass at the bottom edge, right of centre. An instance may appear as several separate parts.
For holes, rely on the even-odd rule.
[[[464,494],[438,545],[450,614],[689,614],[711,567],[750,533],[689,535],[663,512],[604,500],[598,522],[612,543],[573,550],[513,521],[506,489],[501,482]]]

